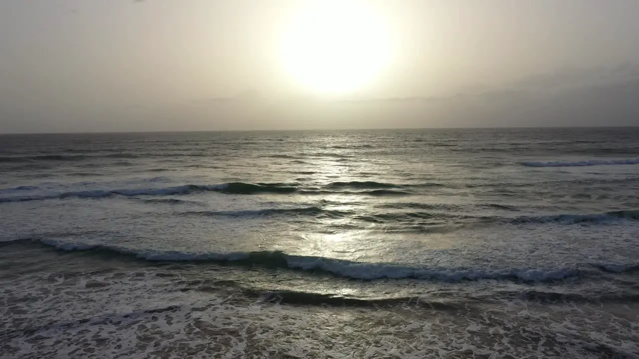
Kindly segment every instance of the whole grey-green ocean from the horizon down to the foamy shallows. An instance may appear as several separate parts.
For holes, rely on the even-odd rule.
[[[639,128],[0,136],[2,358],[639,358]]]

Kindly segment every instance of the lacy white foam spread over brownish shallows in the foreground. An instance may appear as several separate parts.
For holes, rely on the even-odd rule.
[[[626,319],[635,316],[636,306],[610,310],[589,303],[504,300],[441,310],[420,298],[392,308],[300,307],[270,303],[270,296],[265,303],[199,292],[197,275],[177,271],[177,277],[162,277],[160,271],[1,278],[3,354],[24,359],[594,359],[602,355],[597,346],[612,356],[639,353],[636,328]]]

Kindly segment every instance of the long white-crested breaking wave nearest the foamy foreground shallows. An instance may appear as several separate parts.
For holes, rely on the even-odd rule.
[[[97,251],[113,256],[131,256],[146,261],[215,262],[265,268],[319,271],[347,279],[427,279],[458,282],[463,280],[497,279],[523,282],[547,282],[570,277],[589,277],[601,273],[624,273],[639,270],[638,263],[584,263],[560,268],[423,268],[394,263],[364,263],[327,257],[295,256],[279,251],[260,252],[158,252],[131,248],[70,243],[54,238],[18,240],[21,243],[42,243],[65,251]],[[12,241],[9,243],[15,243]],[[6,243],[4,243],[6,244]]]

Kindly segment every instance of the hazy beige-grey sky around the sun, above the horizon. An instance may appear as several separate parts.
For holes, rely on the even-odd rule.
[[[639,125],[639,1],[358,1],[387,61],[319,100],[311,2],[2,0],[0,132]]]

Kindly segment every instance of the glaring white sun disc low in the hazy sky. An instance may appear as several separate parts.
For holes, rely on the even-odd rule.
[[[370,5],[356,0],[305,4],[282,42],[284,67],[300,86],[337,95],[380,75],[389,61],[389,33]]]

